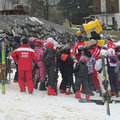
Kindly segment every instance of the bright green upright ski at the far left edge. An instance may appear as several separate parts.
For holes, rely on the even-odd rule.
[[[5,94],[5,44],[4,42],[1,43],[2,46],[2,94]]]

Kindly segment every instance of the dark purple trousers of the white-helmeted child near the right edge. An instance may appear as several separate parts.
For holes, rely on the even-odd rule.
[[[109,69],[109,81],[110,81],[110,86],[111,86],[111,92],[118,92],[119,87],[118,87],[118,78],[117,74],[114,72],[115,67],[110,67]]]

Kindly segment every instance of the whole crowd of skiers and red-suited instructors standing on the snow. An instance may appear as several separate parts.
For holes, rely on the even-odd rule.
[[[27,85],[28,92],[32,94],[33,89],[37,89],[39,85],[39,90],[47,90],[48,95],[58,95],[57,82],[60,71],[60,93],[75,93],[75,97],[79,99],[81,93],[86,95],[86,99],[94,95],[93,91],[103,95],[101,56],[104,55],[106,76],[110,83],[109,94],[119,97],[120,54],[115,51],[115,45],[110,38],[106,40],[105,48],[99,47],[94,39],[90,40],[88,46],[83,42],[83,37],[78,36],[78,43],[73,46],[73,50],[68,44],[55,49],[52,37],[45,42],[34,37],[21,39],[21,36],[15,36],[14,40],[11,54],[16,64],[14,82],[18,82],[21,92],[26,91]]]

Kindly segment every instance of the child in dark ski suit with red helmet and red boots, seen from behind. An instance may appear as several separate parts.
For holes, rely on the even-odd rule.
[[[48,95],[57,95],[56,88],[56,56],[52,42],[46,43],[46,50],[43,53],[43,62],[48,75]]]

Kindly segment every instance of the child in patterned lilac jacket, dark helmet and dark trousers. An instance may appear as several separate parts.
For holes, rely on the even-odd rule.
[[[92,55],[92,53],[90,52],[90,46],[85,46],[84,47],[84,54],[82,54],[81,57],[86,57],[87,58],[87,66],[88,66],[88,77],[87,77],[87,81],[88,81],[88,86],[90,88],[90,95],[93,96],[94,93],[92,92],[92,88],[94,86],[93,83],[93,72],[94,72],[94,68],[93,66],[95,65],[95,57]],[[84,86],[83,86],[84,87]],[[84,91],[83,91],[84,92]]]

